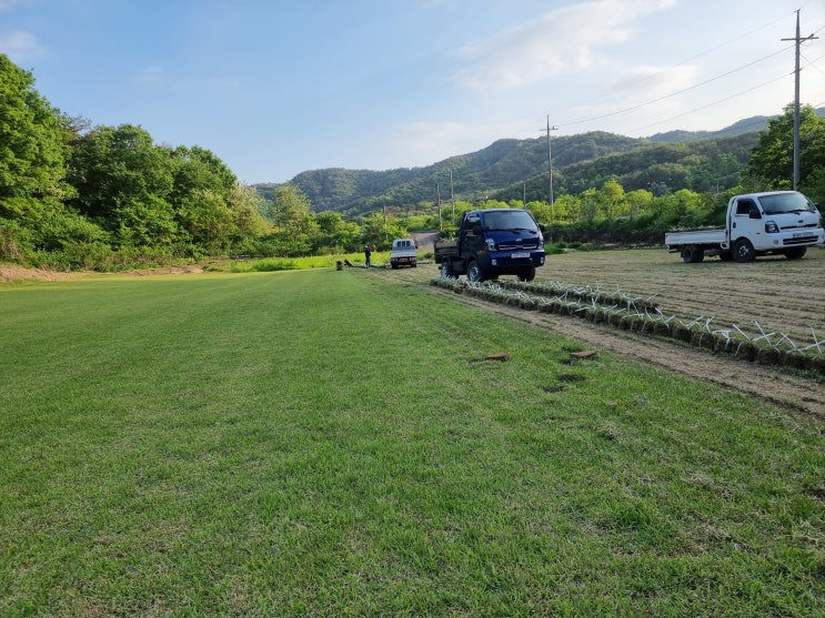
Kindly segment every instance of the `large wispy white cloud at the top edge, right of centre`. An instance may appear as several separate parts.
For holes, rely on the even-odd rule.
[[[583,71],[605,47],[631,40],[636,22],[673,0],[591,0],[462,47],[466,65],[454,83],[472,90],[523,87],[563,71]]]

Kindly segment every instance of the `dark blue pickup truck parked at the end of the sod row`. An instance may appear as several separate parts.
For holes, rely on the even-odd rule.
[[[486,281],[515,275],[533,281],[536,267],[544,265],[543,230],[521,209],[467,211],[457,237],[439,240],[433,249],[442,277]]]

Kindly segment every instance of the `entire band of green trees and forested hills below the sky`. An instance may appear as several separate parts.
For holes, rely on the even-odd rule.
[[[789,107],[721,133],[553,138],[550,199],[543,139],[429,168],[244,186],[198,145],[68,116],[3,54],[0,94],[0,261],[61,270],[383,249],[411,230],[450,233],[463,210],[491,206],[530,209],[554,242],[661,243],[668,227],[718,223],[730,194],[792,178]],[[825,120],[811,107],[801,144],[799,189],[825,202]]]

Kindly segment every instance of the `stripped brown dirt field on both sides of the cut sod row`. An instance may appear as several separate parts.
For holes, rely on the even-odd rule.
[[[373,272],[399,282],[421,284],[439,276],[435,264]],[[736,325],[756,334],[761,327],[775,337],[786,334],[801,346],[819,341],[825,348],[825,250],[822,249],[808,250],[799,261],[763,257],[751,264],[718,259],[685,264],[678,255],[665,250],[567,253],[549,256],[547,264],[536,275],[536,282],[540,281],[653,298],[665,315],[682,320],[711,318],[717,328]],[[499,315],[529,321],[588,346],[610,349],[825,421],[825,384],[821,379],[572,317],[526,312],[429,287],[433,293]]]

